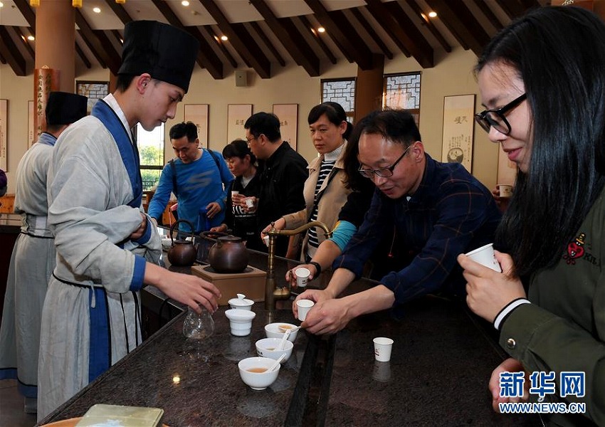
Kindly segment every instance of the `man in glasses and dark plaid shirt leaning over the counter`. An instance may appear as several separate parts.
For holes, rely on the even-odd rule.
[[[485,117],[491,125],[498,113]],[[491,243],[500,222],[483,184],[461,164],[436,162],[424,152],[409,112],[385,110],[364,120],[358,148],[359,174],[377,189],[362,226],[335,260],[327,288],[297,298],[315,301],[302,324],[314,334],[338,332],[354,317],[428,293],[463,297],[465,280],[456,256]],[[394,227],[409,253],[401,270],[372,289],[337,298],[362,275],[365,261]]]

